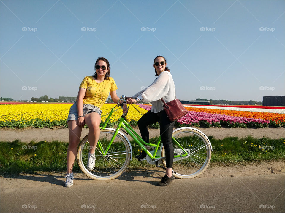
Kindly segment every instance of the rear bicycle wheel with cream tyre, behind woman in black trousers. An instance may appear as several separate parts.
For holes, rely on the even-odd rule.
[[[177,178],[195,178],[208,167],[211,160],[210,141],[193,129],[180,129],[172,133],[174,155],[185,155],[173,160],[173,175]],[[184,150],[183,150],[183,149]],[[161,156],[165,156],[164,147]],[[166,167],[165,159],[162,164]]]

